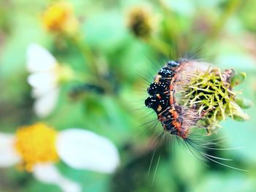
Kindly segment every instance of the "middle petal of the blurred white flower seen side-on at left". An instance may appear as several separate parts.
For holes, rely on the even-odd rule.
[[[37,89],[52,89],[57,86],[58,77],[55,72],[37,72],[28,77],[29,85]]]

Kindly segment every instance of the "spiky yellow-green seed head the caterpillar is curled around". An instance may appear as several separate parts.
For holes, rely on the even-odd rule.
[[[196,72],[181,93],[181,102],[198,110],[200,124],[206,126],[208,131],[218,127],[219,121],[228,117],[247,120],[249,116],[241,110],[240,104],[236,104],[236,93],[233,91],[233,86],[241,83],[244,77],[244,73],[236,76],[231,69]]]

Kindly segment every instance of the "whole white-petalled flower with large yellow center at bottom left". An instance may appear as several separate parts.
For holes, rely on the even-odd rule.
[[[0,133],[0,167],[18,164],[42,183],[58,185],[65,192],[81,191],[78,183],[56,169],[59,159],[74,169],[104,173],[113,173],[119,164],[115,145],[84,129],[57,132],[36,123],[19,128],[14,135]]]

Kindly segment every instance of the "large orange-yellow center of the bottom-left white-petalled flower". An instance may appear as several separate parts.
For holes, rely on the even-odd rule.
[[[22,168],[31,171],[36,163],[58,161],[56,136],[57,132],[44,123],[19,128],[15,148],[23,158]]]

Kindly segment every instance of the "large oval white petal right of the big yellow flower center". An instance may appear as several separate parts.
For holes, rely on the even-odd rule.
[[[57,151],[75,169],[112,173],[119,164],[118,151],[109,139],[79,128],[59,133]]]

